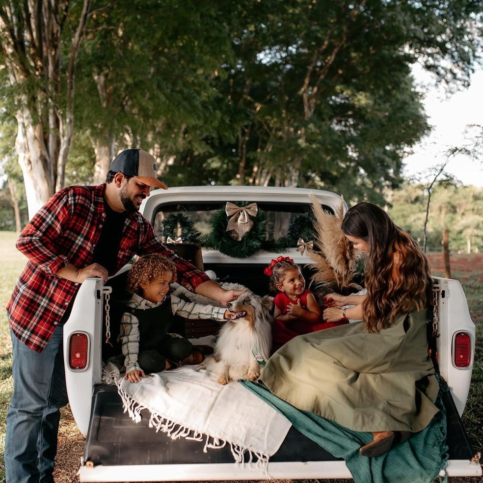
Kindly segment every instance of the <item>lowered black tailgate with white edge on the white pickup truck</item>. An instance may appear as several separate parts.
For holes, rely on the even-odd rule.
[[[461,466],[467,475],[474,451],[449,392],[444,394],[443,402],[448,424],[448,474],[458,476],[458,466]],[[129,481],[150,481],[150,474],[156,475],[152,481],[265,478],[261,472],[248,471],[242,465],[237,467],[229,445],[204,453],[204,442],[184,438],[172,440],[166,434],[149,428],[147,410],[141,412],[145,416],[142,421],[134,423],[124,413],[115,386],[95,386],[92,407],[81,481],[127,481],[128,475]],[[119,467],[119,480],[115,479],[114,467]],[[111,479],[100,480],[103,471]],[[289,430],[277,453],[270,457],[268,472],[272,478],[351,478],[341,458],[332,456],[294,427]]]

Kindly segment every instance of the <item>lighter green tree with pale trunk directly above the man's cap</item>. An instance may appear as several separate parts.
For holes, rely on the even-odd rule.
[[[209,151],[203,139],[227,130],[210,83],[230,55],[223,5],[119,0],[93,16],[76,113],[96,151],[94,182],[120,147],[142,144],[165,166],[187,146]]]

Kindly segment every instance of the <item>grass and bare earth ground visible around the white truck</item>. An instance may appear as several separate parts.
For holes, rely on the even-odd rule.
[[[12,393],[12,353],[5,306],[10,298],[25,258],[15,249],[17,234],[0,232],[0,483],[5,481],[3,449],[5,442],[5,416]],[[430,255],[433,274],[443,276],[441,255]],[[460,280],[465,291],[473,322],[477,327],[477,342],[472,385],[463,414],[463,423],[475,451],[483,449],[481,408],[483,399],[483,256],[452,257],[452,277]],[[68,408],[62,411],[59,430],[59,447],[55,469],[57,483],[76,483],[83,449],[80,435]],[[450,478],[451,483],[481,483],[480,478]],[[307,480],[304,480],[308,482]],[[344,480],[347,482],[348,480]],[[287,482],[287,480],[284,480]],[[310,480],[315,482],[315,480]],[[12,482],[13,483],[13,482]]]

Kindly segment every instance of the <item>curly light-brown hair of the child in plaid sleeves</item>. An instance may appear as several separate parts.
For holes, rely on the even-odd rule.
[[[176,281],[176,265],[171,260],[157,253],[143,255],[129,270],[126,289],[130,294],[139,293],[141,285],[161,279],[168,271],[173,274],[172,282]]]

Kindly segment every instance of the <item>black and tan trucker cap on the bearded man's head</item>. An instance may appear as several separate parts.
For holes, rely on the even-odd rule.
[[[126,149],[121,151],[111,162],[111,171],[134,176],[136,180],[153,188],[168,189],[156,175],[158,165],[154,156],[142,149]]]

